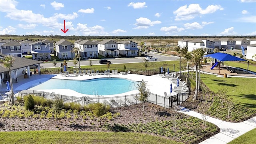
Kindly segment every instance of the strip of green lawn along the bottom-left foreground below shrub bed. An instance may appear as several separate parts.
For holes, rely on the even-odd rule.
[[[0,132],[1,144],[182,144],[133,132]]]

